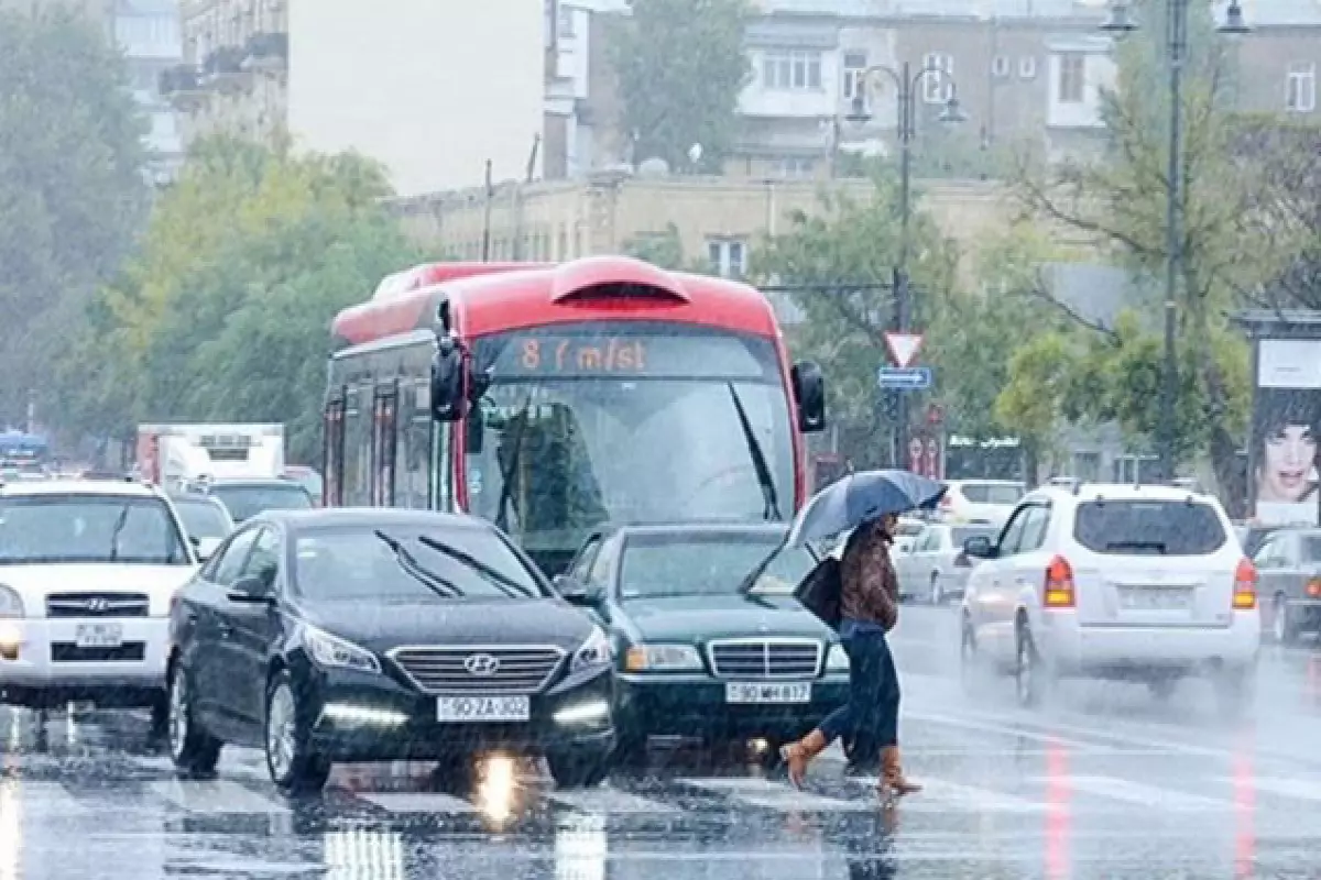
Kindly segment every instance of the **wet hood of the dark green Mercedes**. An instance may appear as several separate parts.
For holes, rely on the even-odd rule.
[[[826,624],[793,596],[674,596],[622,604],[638,636],[697,643],[737,636],[794,636],[831,641]]]

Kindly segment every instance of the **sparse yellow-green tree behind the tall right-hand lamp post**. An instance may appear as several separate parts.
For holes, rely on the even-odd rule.
[[[1143,0],[1137,7],[1144,28],[1119,46],[1118,88],[1103,95],[1106,157],[1089,165],[1066,162],[1049,172],[1022,161],[1018,189],[1038,216],[1090,234],[1098,247],[1137,274],[1162,277],[1169,193],[1168,62],[1161,25],[1165,0]],[[1226,375],[1225,359],[1217,355],[1213,340],[1230,344],[1222,315],[1235,293],[1251,286],[1247,278],[1262,273],[1254,259],[1262,249],[1242,235],[1250,201],[1230,149],[1234,127],[1227,103],[1234,66],[1214,38],[1210,7],[1192,4],[1189,18],[1178,361],[1192,371],[1193,380],[1184,383],[1184,391],[1192,394],[1190,405],[1206,414],[1205,431],[1196,439],[1205,441],[1222,495],[1230,500],[1244,495],[1236,459],[1240,435],[1232,421],[1242,401],[1234,398],[1236,384]],[[1144,305],[1153,313],[1159,309],[1156,302]],[[1135,331],[1112,336],[1110,343],[1148,351],[1153,339]],[[1133,420],[1132,425],[1151,427],[1145,420]],[[1178,445],[1184,450],[1201,449],[1190,438],[1180,438]]]

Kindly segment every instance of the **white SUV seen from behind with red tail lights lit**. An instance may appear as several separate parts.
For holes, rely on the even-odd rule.
[[[1214,497],[1164,486],[1042,488],[999,540],[970,538],[964,553],[985,559],[963,599],[964,670],[1015,676],[1025,706],[1065,677],[1139,681],[1164,697],[1203,674],[1230,711],[1252,693],[1256,570]]]

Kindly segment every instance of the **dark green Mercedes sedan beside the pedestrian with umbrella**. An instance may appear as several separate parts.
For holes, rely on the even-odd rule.
[[[782,524],[630,525],[593,533],[555,582],[614,646],[617,756],[649,738],[774,753],[848,699],[848,657],[791,595],[807,550],[775,555]]]

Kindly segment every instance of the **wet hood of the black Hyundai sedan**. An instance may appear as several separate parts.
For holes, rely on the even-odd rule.
[[[576,650],[594,625],[557,599],[317,602],[300,606],[297,615],[376,653],[404,645],[556,645]]]

